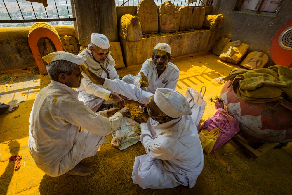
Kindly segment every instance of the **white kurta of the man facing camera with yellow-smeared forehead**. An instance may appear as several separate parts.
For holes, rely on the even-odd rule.
[[[145,76],[147,76],[149,82],[149,86],[145,88],[145,91],[147,92],[155,93],[155,90],[159,87],[175,90],[176,84],[178,83],[179,70],[176,65],[168,62],[166,69],[163,71],[160,77],[158,77],[157,69],[153,63],[152,58],[147,59],[143,63],[137,76],[134,77],[133,75],[126,75],[122,80],[126,83],[141,87],[139,82],[141,78],[140,72],[143,72]]]

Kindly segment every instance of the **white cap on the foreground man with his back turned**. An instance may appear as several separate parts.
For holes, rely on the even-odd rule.
[[[154,102],[158,108],[172,118],[183,115],[192,115],[191,107],[187,99],[173,89],[157,88],[154,93]]]

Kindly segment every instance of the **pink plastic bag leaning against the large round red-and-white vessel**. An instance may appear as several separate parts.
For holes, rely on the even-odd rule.
[[[211,131],[214,128],[219,128],[221,130],[221,135],[217,137],[212,152],[225,144],[240,130],[238,120],[228,113],[227,106],[224,105],[225,109],[220,108],[219,106],[215,107],[217,112],[212,117],[208,118],[208,120],[206,120],[200,127],[200,131],[202,129]]]

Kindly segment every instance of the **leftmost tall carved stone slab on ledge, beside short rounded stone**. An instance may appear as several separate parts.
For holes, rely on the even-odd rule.
[[[142,33],[158,33],[158,13],[153,0],[142,0],[137,6]]]

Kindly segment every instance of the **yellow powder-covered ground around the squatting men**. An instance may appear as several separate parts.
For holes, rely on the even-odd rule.
[[[185,94],[188,87],[200,90],[207,87],[207,101],[203,120],[215,113],[209,98],[219,95],[223,85],[214,86],[212,80],[224,77],[238,65],[219,60],[209,53],[193,54],[172,60],[180,69],[177,90]],[[140,66],[119,69],[118,74],[136,74]],[[11,74],[12,73],[12,74]],[[18,75],[18,79],[3,81],[3,77]],[[133,184],[131,173],[135,156],[145,154],[143,146],[136,145],[123,151],[110,146],[109,139],[97,154],[85,162],[100,165],[99,171],[86,176],[50,177],[39,170],[27,148],[29,114],[34,99],[49,81],[48,76],[34,75],[30,70],[8,71],[0,75],[0,101],[18,103],[19,109],[0,115],[0,194],[291,194],[292,145],[272,149],[256,160],[246,156],[232,141],[215,154],[205,155],[204,169],[195,187],[179,186],[173,189],[141,189]],[[34,82],[35,81],[38,82]],[[8,87],[6,87],[8,86]],[[10,86],[10,87],[9,87]],[[22,96],[23,95],[23,96]],[[20,103],[20,101],[25,101]],[[223,155],[223,153],[225,155]],[[22,155],[21,168],[13,170],[8,162],[11,155]],[[231,172],[227,172],[227,167]]]

